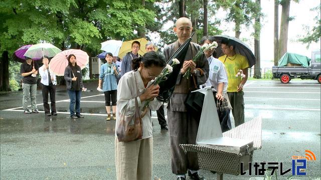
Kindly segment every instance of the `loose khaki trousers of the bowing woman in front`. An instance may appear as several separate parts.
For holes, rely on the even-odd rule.
[[[117,180],[150,180],[152,178],[152,137],[119,142],[115,137]]]

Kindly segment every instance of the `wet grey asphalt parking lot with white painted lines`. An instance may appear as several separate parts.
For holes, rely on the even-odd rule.
[[[22,91],[0,94],[1,179],[116,179],[114,165],[115,121],[106,121],[104,95],[97,82],[85,83],[82,93],[84,118],[70,119],[65,87],[56,92],[57,116],[45,116],[41,89],[37,91],[39,114],[24,114]],[[291,168],[291,156],[314,152],[307,161],[306,176],[320,178],[320,84],[315,80],[249,80],[244,87],[245,121],[262,116],[262,148],[254,162],[283,162]],[[169,135],[153,116],[154,179],[176,179],[171,171]],[[232,118],[233,120],[233,118]],[[232,122],[232,125],[234,123]],[[216,175],[201,169],[207,179]],[[224,174],[224,179],[249,179],[254,175]],[[279,176],[286,179],[291,172]]]

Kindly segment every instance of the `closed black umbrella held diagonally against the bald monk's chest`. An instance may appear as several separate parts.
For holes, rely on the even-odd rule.
[[[161,83],[158,84],[159,85],[159,95],[157,96],[158,100],[161,100],[164,102],[169,101],[174,91],[177,78],[183,66],[185,55],[187,53],[187,50],[189,48],[193,35],[194,33],[174,52],[174,54],[167,61],[167,63],[171,65],[173,63],[173,59],[177,58],[180,61],[180,63],[177,65],[174,65],[173,72],[167,76],[167,79],[165,81],[162,81]]]

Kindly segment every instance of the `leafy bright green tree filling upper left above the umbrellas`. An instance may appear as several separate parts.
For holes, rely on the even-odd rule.
[[[134,31],[153,27],[154,9],[159,9],[153,4],[154,0],[145,0],[145,6],[128,0],[2,0],[0,85],[8,89],[7,66],[20,46],[46,40],[61,49],[80,48],[95,55],[103,40],[132,39],[137,37]]]

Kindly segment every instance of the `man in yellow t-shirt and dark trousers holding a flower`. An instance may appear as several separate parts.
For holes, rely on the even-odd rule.
[[[227,70],[228,87],[227,94],[229,96],[232,114],[235,121],[235,127],[244,123],[244,92],[243,86],[248,77],[249,63],[245,56],[235,52],[235,41],[231,39],[222,39],[222,51],[225,55],[220,56],[219,60],[223,62]],[[243,72],[243,78],[237,76]],[[241,75],[241,73],[240,73]]]

